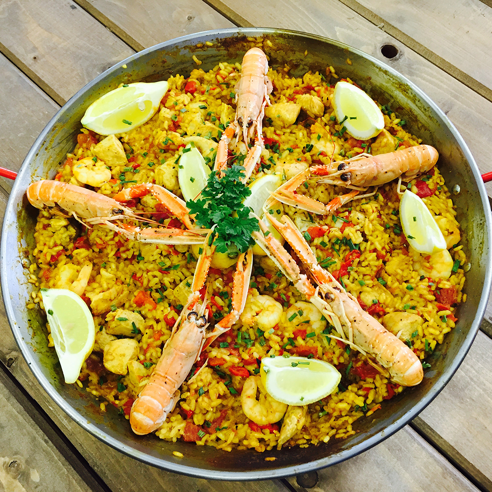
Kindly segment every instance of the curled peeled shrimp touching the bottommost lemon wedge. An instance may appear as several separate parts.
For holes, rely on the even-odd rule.
[[[256,400],[256,390],[260,396]],[[265,390],[260,376],[249,376],[241,393],[243,412],[249,420],[260,426],[275,424],[285,414],[287,405],[272,398]]]

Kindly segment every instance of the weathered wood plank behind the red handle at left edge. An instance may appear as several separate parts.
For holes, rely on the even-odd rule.
[[[0,167],[18,171],[34,140],[60,107],[2,55],[0,73]],[[0,186],[9,191],[12,181],[0,178]]]

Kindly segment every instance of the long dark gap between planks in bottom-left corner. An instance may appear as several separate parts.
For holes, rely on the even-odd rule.
[[[46,438],[55,446],[86,485],[93,491],[111,492],[75,446],[67,439],[41,406],[31,398],[1,361],[0,379],[9,394],[23,407],[40,431],[44,433]]]

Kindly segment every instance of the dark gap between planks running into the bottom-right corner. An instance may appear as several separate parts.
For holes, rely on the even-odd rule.
[[[409,426],[435,448],[447,461],[460,471],[482,492],[492,492],[492,481],[468,461],[456,448],[434,431],[420,417],[415,417]]]

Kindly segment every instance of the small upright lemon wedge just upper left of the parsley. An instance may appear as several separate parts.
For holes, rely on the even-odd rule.
[[[194,200],[200,194],[211,172],[200,151],[188,144],[178,167],[178,182],[185,201]]]

